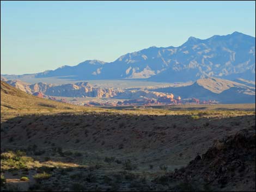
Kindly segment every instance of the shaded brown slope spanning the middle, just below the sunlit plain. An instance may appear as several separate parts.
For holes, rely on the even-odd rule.
[[[239,115],[241,112],[234,113]],[[212,140],[215,136],[219,139],[220,136],[234,133],[241,128],[255,127],[255,113],[234,117],[225,115],[227,114],[209,117],[205,111],[198,115],[61,113],[17,116],[1,123],[1,150],[7,147],[27,148],[30,145],[44,147],[45,150],[54,147],[69,150],[78,149],[84,144],[88,144],[90,148],[121,150],[133,147],[133,143],[141,141],[154,141],[154,146],[157,147],[173,139],[177,140],[177,143],[179,140],[182,142],[182,135],[194,134],[196,137],[194,131],[216,131],[222,134],[210,138],[210,133],[205,132]],[[149,148],[147,144],[144,145]]]

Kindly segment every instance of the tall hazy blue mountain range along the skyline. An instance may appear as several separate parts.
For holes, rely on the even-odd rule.
[[[111,63],[87,60],[76,66],[62,66],[31,75],[75,80],[147,79],[155,82],[187,82],[216,77],[255,81],[255,38],[239,32],[194,37],[179,47],[149,47],[127,53]],[[12,77],[3,75],[3,77]]]

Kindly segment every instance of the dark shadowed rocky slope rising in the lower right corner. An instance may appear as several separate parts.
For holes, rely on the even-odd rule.
[[[255,191],[255,125],[216,141],[202,158],[198,155],[165,179],[186,183],[193,190],[207,186],[213,191]],[[179,187],[173,190],[179,191]]]

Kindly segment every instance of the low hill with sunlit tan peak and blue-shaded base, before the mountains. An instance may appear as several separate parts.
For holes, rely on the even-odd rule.
[[[255,103],[255,85],[237,83],[231,80],[205,78],[198,79],[189,86],[160,88],[153,91],[172,93],[181,98],[217,100],[221,103]]]

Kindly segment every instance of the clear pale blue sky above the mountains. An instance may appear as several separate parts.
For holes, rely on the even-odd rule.
[[[111,62],[235,31],[255,37],[254,1],[1,1],[1,74]]]

